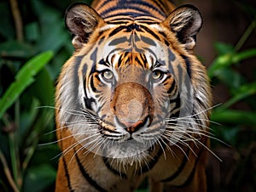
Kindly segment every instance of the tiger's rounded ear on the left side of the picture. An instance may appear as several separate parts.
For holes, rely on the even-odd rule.
[[[84,3],[74,3],[67,8],[65,23],[73,34],[73,47],[82,48],[98,25],[103,23],[102,17]]]

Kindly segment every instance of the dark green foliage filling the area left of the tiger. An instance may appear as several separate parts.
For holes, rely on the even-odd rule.
[[[9,2],[0,3],[0,191],[52,191],[55,80],[73,53],[63,21],[69,3],[19,3],[21,30]]]

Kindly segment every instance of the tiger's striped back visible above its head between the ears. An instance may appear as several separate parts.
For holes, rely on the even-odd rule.
[[[174,8],[168,0],[94,0],[92,7],[106,21],[166,19]]]

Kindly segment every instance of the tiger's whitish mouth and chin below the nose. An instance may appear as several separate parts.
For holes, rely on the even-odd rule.
[[[119,132],[116,127],[103,121],[100,125],[105,140],[102,156],[111,162],[132,166],[144,161],[152,161],[152,156],[158,149],[156,145],[161,143],[162,130],[149,130],[150,127],[144,127],[137,132],[129,133],[124,127],[122,127],[123,132]]]

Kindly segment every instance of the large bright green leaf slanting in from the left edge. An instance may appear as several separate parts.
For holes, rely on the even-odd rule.
[[[35,76],[38,71],[42,70],[44,65],[46,65],[52,57],[53,53],[51,51],[38,54],[28,60],[20,69],[15,76],[15,82],[9,86],[6,93],[3,94],[3,98],[0,99],[0,118],[2,118],[3,113],[20,96],[20,93],[34,82],[33,76]]]

